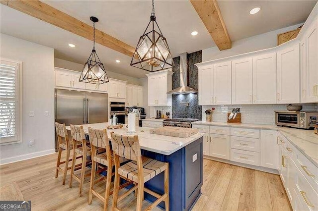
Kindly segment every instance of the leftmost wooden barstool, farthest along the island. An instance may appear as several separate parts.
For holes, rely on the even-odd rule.
[[[58,122],[55,122],[55,129],[56,134],[59,142],[59,150],[58,150],[58,160],[56,163],[56,171],[55,171],[55,178],[58,177],[59,171],[63,172],[63,185],[65,185],[65,180],[67,176],[68,170],[71,169],[71,166],[69,167],[69,161],[72,161],[72,158],[70,159],[71,150],[73,149],[72,143],[69,141],[68,132],[66,130],[65,124],[60,124]],[[61,161],[61,155],[62,151],[66,150],[66,158],[64,161]],[[61,164],[65,163],[64,169],[60,167]]]

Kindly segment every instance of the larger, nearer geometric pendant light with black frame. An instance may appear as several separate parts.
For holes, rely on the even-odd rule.
[[[155,16],[155,5],[150,21],[137,44],[135,53],[130,62],[131,66],[155,72],[174,67],[173,59],[165,37],[163,37]]]

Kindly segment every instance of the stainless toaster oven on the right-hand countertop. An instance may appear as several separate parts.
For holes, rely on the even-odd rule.
[[[275,111],[276,125],[310,129],[318,122],[317,111]]]

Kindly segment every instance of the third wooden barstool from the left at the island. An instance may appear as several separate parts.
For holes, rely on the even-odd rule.
[[[98,129],[89,127],[88,134],[89,134],[89,142],[90,142],[91,152],[92,152],[91,153],[92,165],[91,165],[88,204],[89,205],[91,204],[92,197],[94,195],[104,203],[104,211],[107,211],[109,196],[111,195],[111,192],[112,192],[110,191],[111,177],[114,175],[114,173],[112,173],[113,166],[114,166],[112,151],[110,150],[110,144],[109,144],[106,129],[98,130]],[[97,150],[98,148],[105,149],[106,152],[102,154],[97,154],[96,152],[98,151]],[[125,161],[124,158],[119,158],[119,160],[120,160],[120,163]],[[101,168],[96,171],[96,165],[99,165],[99,164],[106,166],[106,168]],[[96,182],[102,181],[101,179],[95,181],[95,174],[101,171],[107,171],[106,188],[105,188],[104,197],[94,190],[94,184]],[[130,184],[132,184],[132,182],[125,183],[125,185],[122,185],[121,187],[123,188]]]

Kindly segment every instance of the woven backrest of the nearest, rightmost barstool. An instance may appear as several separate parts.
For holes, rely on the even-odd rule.
[[[141,158],[141,150],[138,136],[124,136],[110,133],[113,152],[123,158],[138,160]]]

